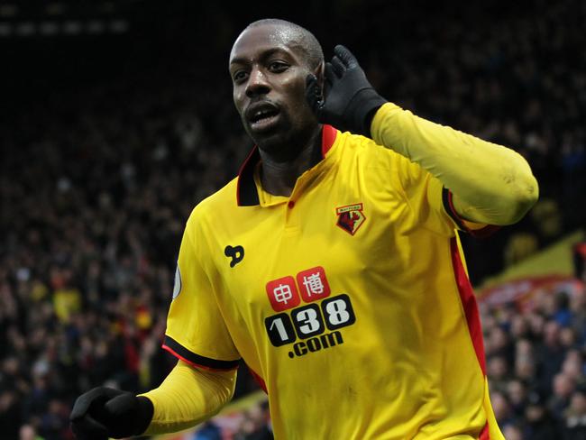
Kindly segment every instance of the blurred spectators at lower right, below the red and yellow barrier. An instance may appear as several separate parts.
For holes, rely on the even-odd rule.
[[[530,307],[481,307],[490,399],[507,440],[586,438],[583,281],[543,289]]]

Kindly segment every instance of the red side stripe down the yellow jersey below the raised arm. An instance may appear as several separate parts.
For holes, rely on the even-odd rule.
[[[472,291],[470,280],[464,266],[462,264],[462,258],[458,249],[458,242],[453,237],[450,240],[450,247],[452,251],[452,265],[453,272],[458,285],[458,292],[460,293],[460,300],[462,301],[462,307],[464,307],[464,313],[466,315],[466,323],[468,324],[468,331],[472,338],[472,344],[474,345],[474,351],[476,352],[476,358],[478,363],[481,365],[482,373],[486,376],[486,361],[484,359],[484,342],[482,341],[482,327],[481,318],[478,313],[478,305],[476,304],[476,297]]]

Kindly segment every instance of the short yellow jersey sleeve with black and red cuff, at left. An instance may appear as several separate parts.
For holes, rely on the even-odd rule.
[[[163,348],[192,366],[227,371],[240,355],[218,307],[206,272],[206,243],[197,241],[193,215],[183,234]],[[198,243],[199,242],[199,243]]]

